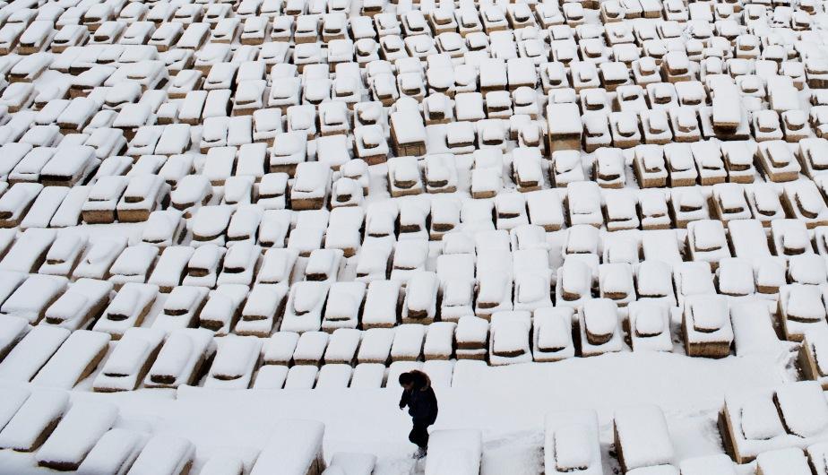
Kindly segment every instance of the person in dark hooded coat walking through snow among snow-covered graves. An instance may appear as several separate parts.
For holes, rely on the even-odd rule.
[[[426,373],[414,369],[400,375],[402,397],[400,409],[409,408],[413,426],[409,440],[418,446],[415,458],[426,456],[428,446],[428,426],[437,419],[437,397],[431,388],[431,379]]]

